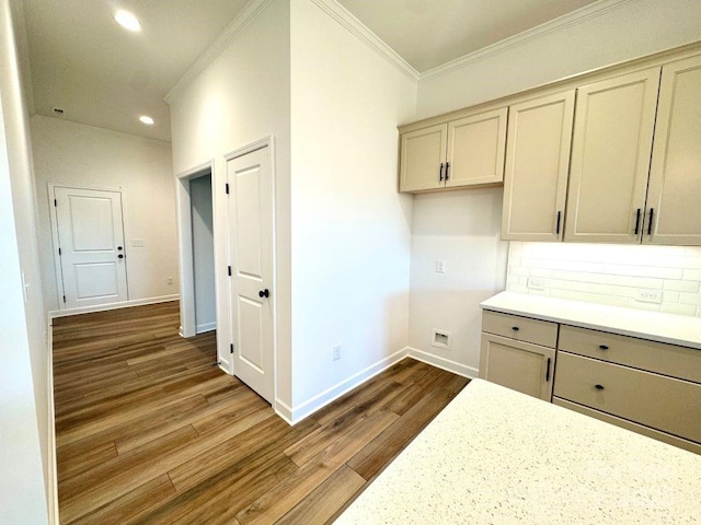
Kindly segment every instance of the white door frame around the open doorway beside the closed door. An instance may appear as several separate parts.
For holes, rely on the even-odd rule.
[[[195,318],[195,261],[193,257],[193,214],[189,197],[189,182],[209,174],[211,176],[211,209],[214,221],[217,217],[215,199],[215,161],[210,159],[197,166],[175,174],[175,208],[177,212],[177,249],[180,253],[180,336],[183,338],[197,335]],[[215,226],[216,228],[216,226]],[[215,234],[215,249],[216,249]],[[215,264],[217,258],[215,257]],[[216,271],[215,271],[216,275]],[[215,288],[216,293],[216,288]],[[216,301],[216,299],[215,299]],[[219,315],[217,312],[217,326]],[[217,332],[218,334],[218,332]],[[217,338],[219,336],[217,335]]]

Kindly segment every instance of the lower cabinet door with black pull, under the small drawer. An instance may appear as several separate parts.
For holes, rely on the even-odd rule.
[[[550,401],[555,350],[482,334],[480,377]]]

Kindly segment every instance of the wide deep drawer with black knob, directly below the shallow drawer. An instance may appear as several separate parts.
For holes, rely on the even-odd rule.
[[[701,385],[558,352],[553,395],[701,442]]]

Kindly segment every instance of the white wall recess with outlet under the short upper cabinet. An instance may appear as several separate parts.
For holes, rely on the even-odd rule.
[[[502,195],[502,188],[482,188],[414,198],[409,345],[418,357],[474,377],[478,305],[506,280]],[[445,273],[436,271],[437,260],[445,261]],[[450,349],[432,346],[434,330],[450,334]]]

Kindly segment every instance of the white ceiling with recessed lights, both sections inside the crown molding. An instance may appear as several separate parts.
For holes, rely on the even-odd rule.
[[[165,94],[246,1],[24,0],[34,113],[170,141]],[[595,1],[338,0],[418,72]],[[118,26],[117,9],[142,31]]]

